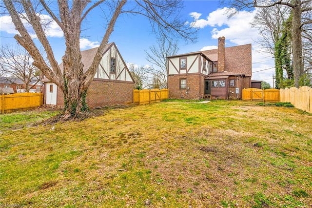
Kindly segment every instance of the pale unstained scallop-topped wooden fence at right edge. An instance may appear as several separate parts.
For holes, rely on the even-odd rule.
[[[290,102],[300,110],[312,113],[312,88],[302,86],[280,89],[280,102]]]

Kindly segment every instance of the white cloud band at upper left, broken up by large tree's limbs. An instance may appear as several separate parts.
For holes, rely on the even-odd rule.
[[[60,29],[59,25],[52,20],[52,18],[48,15],[39,15],[40,21],[44,25],[44,32],[47,37],[63,37],[63,31]],[[25,28],[29,32],[29,35],[32,38],[37,38],[32,26],[24,19],[21,19],[22,23],[24,24]],[[10,16],[2,16],[0,17],[0,31],[7,32],[9,34],[18,34],[18,31],[15,29],[15,25],[12,22]]]

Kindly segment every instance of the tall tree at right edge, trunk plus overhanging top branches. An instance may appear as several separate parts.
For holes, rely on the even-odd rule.
[[[302,32],[303,26],[306,22],[311,23],[311,19],[303,20],[307,13],[311,13],[312,3],[311,0],[223,0],[224,4],[230,5],[232,14],[242,9],[252,10],[254,7],[268,8],[275,5],[288,6],[292,11],[292,66],[294,72],[294,86],[299,87],[300,81],[303,79],[303,56],[302,56]],[[234,12],[233,12],[234,11]],[[311,16],[310,16],[311,17]],[[303,21],[304,22],[303,22]]]

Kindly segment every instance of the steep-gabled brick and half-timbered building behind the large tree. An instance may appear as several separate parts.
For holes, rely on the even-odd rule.
[[[98,48],[81,51],[81,62],[83,71],[90,67]],[[59,67],[62,70],[63,64]],[[64,106],[63,92],[59,87],[43,79],[44,82],[44,104]],[[91,82],[86,102],[89,107],[104,107],[111,104],[125,104],[133,102],[134,80],[130,71],[123,61],[116,44],[109,43],[103,50],[102,59],[98,65],[97,73]]]

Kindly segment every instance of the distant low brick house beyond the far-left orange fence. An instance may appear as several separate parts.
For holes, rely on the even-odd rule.
[[[33,78],[29,83],[28,87],[30,87],[31,92],[41,92],[42,84],[39,81],[39,78]],[[24,82],[20,78],[16,77],[0,77],[0,87],[8,88],[12,87],[14,93],[26,92],[26,86]]]

